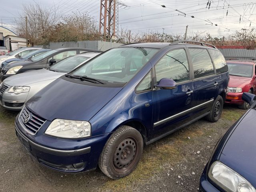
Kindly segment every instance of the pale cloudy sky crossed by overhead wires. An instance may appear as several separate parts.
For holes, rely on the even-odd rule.
[[[22,12],[22,4],[34,1],[56,6],[64,15],[80,11],[97,22],[100,18],[100,0],[10,0],[0,6],[0,25],[15,31],[13,19]],[[252,0],[119,0],[118,8],[119,31],[132,33],[183,35],[188,25],[188,36],[199,32],[221,37],[256,27],[256,2]]]

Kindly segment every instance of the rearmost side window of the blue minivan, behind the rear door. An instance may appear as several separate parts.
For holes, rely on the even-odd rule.
[[[213,49],[209,49],[209,52],[212,56],[217,74],[221,74],[228,71],[228,66],[226,60],[221,52]]]

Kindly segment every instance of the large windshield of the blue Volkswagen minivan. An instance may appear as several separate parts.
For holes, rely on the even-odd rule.
[[[86,76],[105,84],[126,83],[158,52],[155,48],[122,47],[100,54],[72,71],[72,76]]]

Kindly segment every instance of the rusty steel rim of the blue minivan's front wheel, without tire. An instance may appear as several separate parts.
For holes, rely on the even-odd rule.
[[[134,138],[125,138],[117,146],[113,155],[113,167],[117,172],[126,172],[136,161],[138,142]]]

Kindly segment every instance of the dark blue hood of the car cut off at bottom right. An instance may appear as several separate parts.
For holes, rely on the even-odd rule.
[[[256,188],[256,110],[252,109],[236,126],[226,142],[220,161]]]

